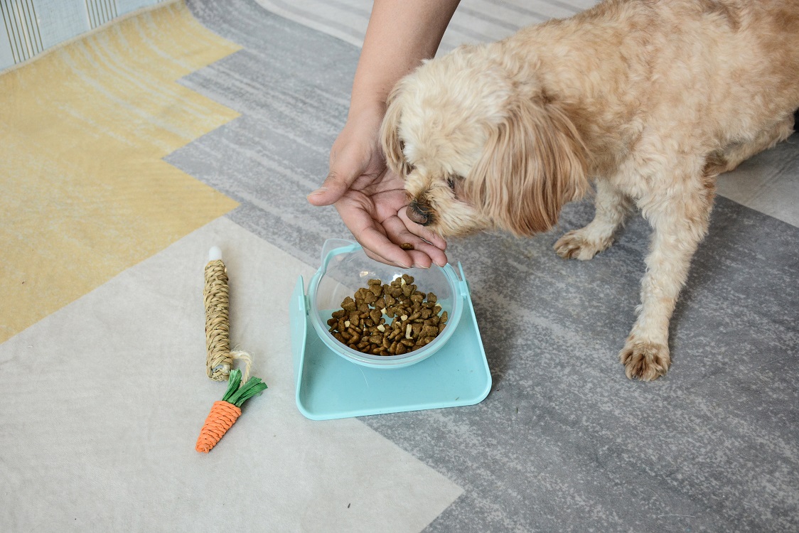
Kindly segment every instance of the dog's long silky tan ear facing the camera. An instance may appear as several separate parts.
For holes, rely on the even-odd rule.
[[[561,106],[518,98],[493,126],[466,195],[498,229],[529,236],[551,229],[566,202],[586,192],[586,150]]]

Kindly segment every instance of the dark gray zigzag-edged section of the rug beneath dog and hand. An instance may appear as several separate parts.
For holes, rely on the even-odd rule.
[[[360,50],[248,0],[188,3],[244,50],[181,83],[242,116],[166,160],[318,265],[324,240],[348,232],[305,195],[327,172]],[[640,384],[616,354],[648,226],[634,218],[593,261],[556,257],[559,234],[591,217],[583,202],[552,233],[451,243],[491,394],[362,419],[464,488],[427,531],[799,531],[799,230],[719,198],[672,321],[674,366]]]

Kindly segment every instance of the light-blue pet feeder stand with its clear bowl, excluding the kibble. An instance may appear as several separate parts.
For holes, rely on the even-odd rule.
[[[463,268],[396,268],[369,259],[352,241],[325,242],[321,266],[289,304],[296,404],[312,420],[477,404],[491,390],[483,343]],[[327,320],[368,280],[407,273],[434,292],[447,327],[430,344],[401,356],[370,356],[341,344]]]

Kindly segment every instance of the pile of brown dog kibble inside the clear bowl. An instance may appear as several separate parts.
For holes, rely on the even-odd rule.
[[[391,324],[386,323],[386,316]],[[401,356],[418,350],[439,336],[446,325],[447,312],[441,311],[435,294],[419,291],[413,276],[407,274],[391,284],[369,280],[354,297],[344,298],[328,320],[329,331],[340,343],[375,356]]]

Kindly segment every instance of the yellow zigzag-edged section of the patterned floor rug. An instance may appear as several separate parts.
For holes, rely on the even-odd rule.
[[[238,116],[176,80],[239,49],[173,2],[0,75],[0,343],[236,207],[161,158]]]

